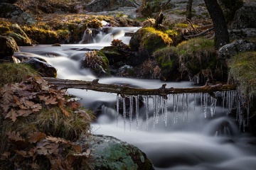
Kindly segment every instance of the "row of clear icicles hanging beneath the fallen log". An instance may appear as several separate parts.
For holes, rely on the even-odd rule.
[[[144,103],[145,103],[145,115],[146,115],[146,130],[149,129],[149,118],[150,113],[149,111],[152,111],[152,117],[153,117],[153,128],[155,128],[156,124],[159,124],[159,121],[164,121],[164,125],[167,127],[169,116],[172,114],[173,117],[173,123],[185,123],[189,122],[189,96],[191,94],[170,94],[168,99],[165,99],[163,96],[144,96]],[[221,98],[215,97],[220,96]],[[135,98],[135,103],[133,103],[133,98]],[[200,102],[197,103],[197,99],[200,98]],[[245,118],[245,116],[242,113],[242,106],[247,106],[245,103],[245,98],[243,98],[242,94],[239,93],[239,91],[217,91],[214,95],[210,94],[204,94],[204,93],[198,93],[193,94],[193,97],[191,98],[193,101],[193,110],[195,110],[196,106],[200,106],[202,108],[202,113],[204,118],[212,118],[215,115],[215,108],[217,106],[218,100],[219,103],[222,103],[222,110],[228,109],[228,112],[230,113],[233,109],[236,109],[236,116],[237,121],[240,125],[240,127],[243,127],[243,130],[245,130],[245,127],[247,126],[248,118]],[[123,105],[123,118],[124,118],[124,129],[126,125],[126,115],[127,111],[125,108],[125,98],[122,99],[122,105]],[[149,105],[149,103],[152,103],[152,105]],[[170,103],[168,106],[167,103]],[[136,116],[136,127],[137,130],[139,129],[139,96],[129,96],[129,128],[132,129],[132,114],[135,111]],[[119,96],[117,95],[117,106],[119,106]],[[134,108],[135,107],[135,108]],[[151,108],[151,109],[150,109]],[[246,107],[247,108],[247,107]],[[118,111],[118,109],[117,109]],[[180,118],[179,115],[182,115]],[[248,115],[248,111],[247,111]],[[171,122],[170,122],[171,123]]]

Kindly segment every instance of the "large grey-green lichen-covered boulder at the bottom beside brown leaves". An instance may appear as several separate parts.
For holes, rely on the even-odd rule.
[[[95,159],[95,162],[90,165],[93,169],[154,169],[144,152],[115,137],[92,135],[88,140],[83,137],[76,143],[84,145],[82,149],[89,147],[92,150],[92,159]],[[87,148],[85,148],[85,144]]]

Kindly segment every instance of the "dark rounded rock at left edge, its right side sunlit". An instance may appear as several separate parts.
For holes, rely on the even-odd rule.
[[[14,55],[14,52],[18,52],[19,48],[14,38],[8,36],[0,36],[0,59],[7,56]]]

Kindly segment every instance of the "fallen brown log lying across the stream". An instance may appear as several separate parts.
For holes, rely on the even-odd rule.
[[[215,84],[205,85],[191,88],[166,88],[166,84],[163,84],[159,89],[140,89],[129,87],[127,84],[100,84],[98,79],[93,81],[80,81],[69,79],[55,79],[50,77],[43,77],[52,86],[56,86],[58,89],[86,89],[92,91],[101,91],[107,93],[121,94],[121,96],[166,96],[167,94],[193,94],[193,93],[208,93],[213,94],[215,91],[230,91],[235,90],[235,84]]]

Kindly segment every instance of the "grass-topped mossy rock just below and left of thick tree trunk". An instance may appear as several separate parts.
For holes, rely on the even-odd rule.
[[[214,76],[218,56],[213,46],[213,40],[193,38],[177,45],[179,62],[182,71],[188,72],[189,77],[203,74],[206,79],[217,79]],[[220,81],[220,80],[219,80]],[[205,83],[202,79],[201,83]]]

